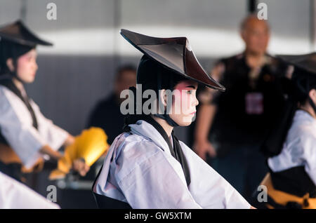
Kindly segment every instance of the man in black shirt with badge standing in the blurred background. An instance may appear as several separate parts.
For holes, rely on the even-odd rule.
[[[224,93],[203,90],[197,112],[195,151],[250,201],[268,168],[259,148],[286,97],[291,69],[266,53],[270,29],[247,17],[241,26],[243,53],[219,60],[211,72]],[[216,157],[216,158],[215,158]]]

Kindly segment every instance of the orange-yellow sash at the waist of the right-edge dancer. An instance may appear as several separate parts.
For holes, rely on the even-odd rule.
[[[303,207],[303,209],[316,209],[316,198],[309,198],[309,194],[305,194],[303,197],[295,196],[293,194],[288,194],[284,191],[279,191],[273,187],[272,180],[270,173],[265,175],[265,178],[261,182],[261,185],[265,185],[268,189],[268,196],[270,196],[275,203],[278,203],[279,205],[287,205],[288,202],[294,201],[297,203],[300,203]],[[304,199],[308,200],[309,205],[304,205]],[[268,208],[273,208],[272,205],[268,205]]]

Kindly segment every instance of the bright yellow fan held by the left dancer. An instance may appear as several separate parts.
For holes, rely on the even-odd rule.
[[[84,158],[86,164],[91,166],[107,149],[107,135],[102,128],[92,127],[83,130],[75,137],[74,143],[65,148],[65,154],[58,160],[58,167],[51,172],[49,180],[64,178],[70,172],[72,162],[77,158]]]

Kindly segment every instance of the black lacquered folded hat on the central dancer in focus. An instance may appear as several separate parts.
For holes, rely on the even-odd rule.
[[[204,71],[186,37],[157,38],[126,29],[121,29],[121,35],[140,52],[164,67],[209,88],[225,90],[225,87]]]

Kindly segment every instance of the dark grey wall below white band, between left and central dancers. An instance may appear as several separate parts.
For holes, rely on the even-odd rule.
[[[110,93],[111,56],[39,55],[39,71],[27,92],[58,126],[79,134],[93,106]]]

